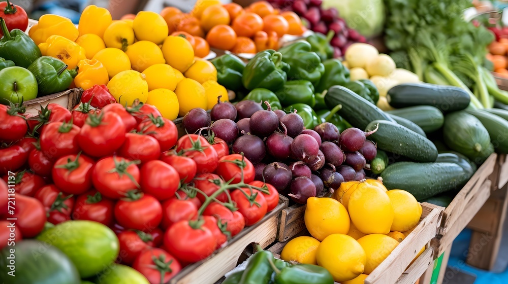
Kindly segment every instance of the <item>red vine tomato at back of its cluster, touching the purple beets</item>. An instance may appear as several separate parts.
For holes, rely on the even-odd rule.
[[[240,154],[231,154],[220,158],[215,172],[222,176],[225,181],[233,180],[233,184],[238,184],[242,181],[242,168],[243,182],[248,184],[254,181],[256,176],[254,165]]]

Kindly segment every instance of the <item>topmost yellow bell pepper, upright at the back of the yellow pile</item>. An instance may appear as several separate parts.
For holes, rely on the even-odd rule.
[[[79,35],[94,33],[103,37],[104,31],[111,24],[113,18],[108,9],[97,7],[95,5],[87,6],[79,18]]]

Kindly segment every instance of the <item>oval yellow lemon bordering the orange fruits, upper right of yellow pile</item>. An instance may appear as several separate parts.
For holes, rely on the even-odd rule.
[[[166,64],[185,72],[194,63],[194,49],[190,43],[182,37],[170,35],[164,40],[162,53]]]

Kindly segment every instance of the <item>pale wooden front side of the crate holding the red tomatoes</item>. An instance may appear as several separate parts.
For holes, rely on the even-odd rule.
[[[236,267],[239,257],[252,242],[263,248],[275,241],[280,211],[288,206],[288,198],[280,196],[279,205],[259,223],[242,230],[229,243],[210,257],[183,268],[170,284],[213,284],[228,271]]]

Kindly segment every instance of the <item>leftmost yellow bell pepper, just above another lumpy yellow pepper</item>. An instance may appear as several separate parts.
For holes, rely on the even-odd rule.
[[[71,41],[76,41],[78,28],[68,18],[58,15],[42,15],[39,22],[28,30],[28,35],[36,45],[45,43],[52,35],[61,35]]]

